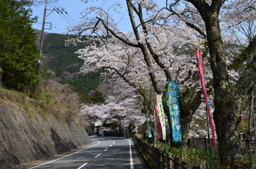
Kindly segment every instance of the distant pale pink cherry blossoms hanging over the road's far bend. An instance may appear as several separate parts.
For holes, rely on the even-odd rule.
[[[126,91],[132,94],[131,87],[122,87]],[[115,87],[116,88],[116,87]],[[120,89],[120,86],[118,87]],[[118,92],[120,92],[118,89]],[[140,102],[136,95],[129,96],[129,94],[119,93],[118,96],[108,96],[106,104],[88,104],[83,103],[81,105],[81,114],[86,117],[86,121],[91,124],[102,124],[102,122],[117,123],[120,126],[129,126],[131,124],[138,124],[142,126],[145,122],[144,114],[140,111]]]

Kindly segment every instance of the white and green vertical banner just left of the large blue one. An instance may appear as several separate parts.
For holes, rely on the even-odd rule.
[[[156,95],[156,112],[160,120],[162,132],[163,132],[163,140],[166,139],[166,128],[165,128],[165,118],[164,118],[164,108],[163,108],[163,94],[157,94]]]

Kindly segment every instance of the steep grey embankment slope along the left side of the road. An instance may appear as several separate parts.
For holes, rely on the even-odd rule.
[[[33,99],[0,88],[0,168],[12,168],[76,149],[91,140],[84,126],[42,114]],[[29,106],[29,108],[28,108]]]

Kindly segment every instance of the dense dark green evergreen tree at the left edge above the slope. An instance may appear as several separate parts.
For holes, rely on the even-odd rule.
[[[2,82],[8,89],[33,91],[39,83],[36,66],[39,59],[36,35],[31,24],[27,0],[0,1],[0,67],[3,69]]]

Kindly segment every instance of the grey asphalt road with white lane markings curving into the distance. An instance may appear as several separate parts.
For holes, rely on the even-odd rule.
[[[92,136],[92,143],[76,151],[61,154],[19,169],[32,168],[129,168],[145,169],[134,142],[127,138]]]

